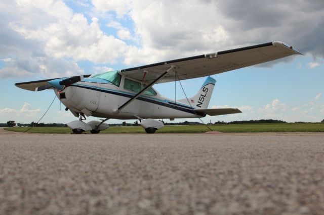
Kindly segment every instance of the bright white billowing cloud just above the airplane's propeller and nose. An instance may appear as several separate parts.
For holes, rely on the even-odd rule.
[[[55,58],[114,64],[127,48],[125,42],[104,34],[97,18],[88,23],[82,14],[74,14],[68,21],[52,23],[37,30],[14,24],[12,28],[28,39],[44,41],[45,52]]]

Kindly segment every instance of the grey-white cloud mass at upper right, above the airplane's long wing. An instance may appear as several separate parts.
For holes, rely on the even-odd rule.
[[[133,0],[127,4],[114,3],[115,6],[110,1],[92,2],[97,11],[114,11],[134,22],[133,39],[140,45],[129,47],[125,64],[154,63],[273,40],[288,42],[314,57],[323,57],[324,53],[324,45],[321,45],[324,4],[321,1],[264,3],[248,0],[244,7],[231,0]],[[114,23],[114,26],[123,29],[119,24]]]

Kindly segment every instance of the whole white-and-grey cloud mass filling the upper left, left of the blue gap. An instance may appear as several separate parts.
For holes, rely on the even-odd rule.
[[[1,78],[76,75],[84,73],[77,61],[114,64],[127,50],[125,42],[100,29],[97,18],[89,22],[62,1],[20,0],[0,3],[0,9],[6,11],[0,20]],[[120,37],[130,34],[124,30]]]

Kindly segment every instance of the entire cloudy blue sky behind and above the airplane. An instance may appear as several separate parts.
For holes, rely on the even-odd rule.
[[[324,119],[322,0],[0,0],[0,10],[1,123],[37,122],[55,97],[53,90],[27,91],[15,87],[17,82],[121,70],[276,40],[304,56],[213,75],[217,83],[209,108],[243,113],[203,121]],[[181,84],[190,97],[204,81]],[[179,83],[177,95],[174,82],[154,88],[170,98],[185,97]],[[64,109],[56,98],[41,122],[77,120]]]

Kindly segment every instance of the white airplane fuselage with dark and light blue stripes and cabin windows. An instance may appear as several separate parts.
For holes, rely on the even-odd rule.
[[[118,74],[117,74],[118,75]],[[120,76],[120,77],[119,77]],[[110,119],[175,119],[199,118],[194,108],[188,104],[161,96],[150,88],[120,112],[118,107],[131,99],[144,84],[118,75],[119,80],[89,77],[63,90],[55,89],[61,102],[75,115]]]

